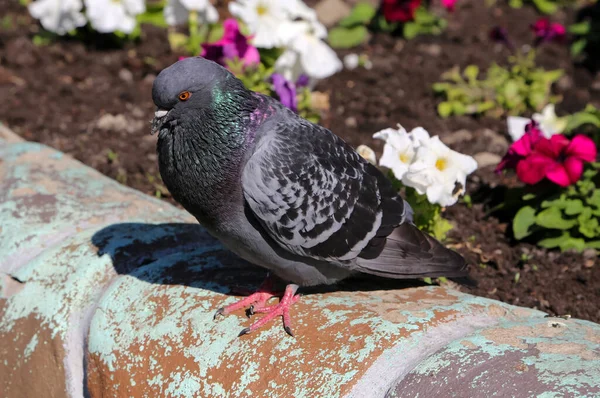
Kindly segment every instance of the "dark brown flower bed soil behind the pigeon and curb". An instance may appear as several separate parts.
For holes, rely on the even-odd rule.
[[[38,33],[26,10],[0,0],[0,121],[28,140],[71,154],[83,163],[150,195],[165,197],[149,135],[154,105],[150,92],[156,74],[176,61],[166,31],[145,26],[137,43],[122,48],[103,37],[92,44],[60,40],[46,46],[32,43]],[[532,43],[529,24],[538,16],[531,8],[504,5],[488,8],[482,0],[463,0],[439,37],[404,41],[375,35],[352,52],[367,53],[369,71],[343,71],[323,81],[318,90],[330,95],[330,111],[322,123],[352,145],[372,145],[374,132],[401,123],[423,126],[453,148],[475,155],[502,155],[508,146],[505,122],[490,118],[441,119],[431,85],[454,65],[505,63],[509,54],[490,42],[489,30],[507,27],[517,46]],[[10,18],[6,18],[10,16]],[[558,15],[572,21],[570,13]],[[7,22],[9,21],[9,22]],[[340,51],[344,55],[348,51]],[[544,45],[538,62],[566,71],[555,87],[564,96],[559,113],[600,106],[600,77],[571,63],[568,47]],[[491,167],[470,178],[468,190],[482,197],[499,177]],[[600,265],[595,253],[558,253],[516,243],[507,224],[486,217],[482,204],[457,204],[446,216],[455,228],[449,244],[471,264],[477,288],[470,293],[511,304],[539,308],[554,315],[570,314],[600,322]]]

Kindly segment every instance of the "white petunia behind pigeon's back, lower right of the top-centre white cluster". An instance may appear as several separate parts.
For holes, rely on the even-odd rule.
[[[300,62],[302,70],[310,78],[324,79],[343,67],[335,51],[322,40],[327,37],[327,29],[317,21],[282,23],[279,37],[287,50],[298,54],[296,62]],[[282,62],[276,63],[275,68],[283,69]]]

